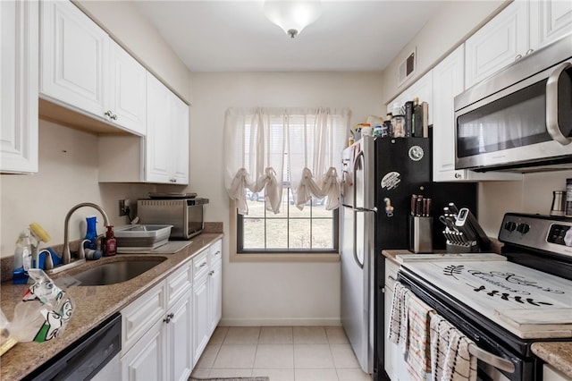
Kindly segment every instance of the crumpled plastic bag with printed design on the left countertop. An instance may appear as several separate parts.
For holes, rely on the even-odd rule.
[[[38,268],[30,268],[34,284],[16,304],[13,334],[20,342],[46,342],[62,334],[73,314],[73,303],[59,287]]]

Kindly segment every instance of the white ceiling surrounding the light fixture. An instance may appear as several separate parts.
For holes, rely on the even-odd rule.
[[[263,0],[135,0],[191,72],[382,71],[445,1],[324,0],[290,38]]]

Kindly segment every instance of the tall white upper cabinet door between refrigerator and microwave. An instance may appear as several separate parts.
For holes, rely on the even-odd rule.
[[[461,176],[455,171],[454,97],[464,86],[465,51],[458,47],[433,68],[433,181],[446,182]]]

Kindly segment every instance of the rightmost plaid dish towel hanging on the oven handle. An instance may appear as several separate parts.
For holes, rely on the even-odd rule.
[[[469,353],[475,344],[455,326],[431,314],[431,369],[433,381],[475,381],[476,357]]]

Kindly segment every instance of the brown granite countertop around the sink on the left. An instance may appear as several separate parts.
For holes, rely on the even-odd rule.
[[[44,364],[47,360],[55,357],[71,343],[78,340],[91,329],[95,328],[106,318],[110,318],[114,313],[120,311],[131,301],[136,300],[141,294],[158,284],[182,264],[189,263],[198,252],[206,249],[214,241],[222,238],[222,233],[202,233],[192,239],[186,248],[173,254],[118,254],[114,257],[101,258],[96,261],[88,261],[87,265],[81,268],[97,267],[104,262],[114,262],[122,258],[133,258],[145,260],[148,258],[166,258],[156,267],[151,268],[146,273],[136,276],[121,284],[110,284],[105,286],[71,286],[67,289],[66,296],[69,296],[75,303],[73,315],[63,333],[51,341],[45,343],[18,343],[12,349],[4,353],[0,361],[0,379],[21,379],[34,369]],[[78,270],[75,270],[77,273]],[[58,278],[72,276],[74,270],[68,270],[57,275],[52,275],[55,284]],[[2,311],[9,320],[13,319],[14,306],[21,301],[21,297],[28,289],[26,284],[12,284],[4,282],[0,291],[2,292]]]

